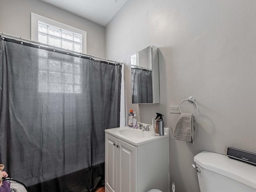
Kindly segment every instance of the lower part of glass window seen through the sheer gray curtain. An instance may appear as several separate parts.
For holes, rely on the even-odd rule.
[[[54,52],[38,49],[38,91],[82,93],[82,60],[53,56]]]

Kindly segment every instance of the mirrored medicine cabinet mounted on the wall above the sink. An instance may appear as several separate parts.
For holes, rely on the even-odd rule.
[[[148,46],[131,56],[132,103],[160,103],[158,48]]]

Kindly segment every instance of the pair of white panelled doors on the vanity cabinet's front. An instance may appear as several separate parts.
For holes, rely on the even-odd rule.
[[[105,141],[106,187],[110,192],[135,192],[136,147],[109,134]]]

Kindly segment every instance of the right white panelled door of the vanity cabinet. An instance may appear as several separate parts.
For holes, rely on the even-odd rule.
[[[118,192],[137,191],[137,148],[118,139]]]

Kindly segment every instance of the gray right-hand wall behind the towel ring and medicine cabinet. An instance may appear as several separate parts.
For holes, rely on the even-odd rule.
[[[200,191],[197,153],[226,154],[228,146],[256,152],[255,10],[255,0],[128,0],[106,26],[106,57],[126,63],[127,113],[150,124],[160,112],[172,134],[179,115],[170,105],[196,98],[195,144],[170,138],[176,192]],[[130,56],[149,45],[160,50],[160,104],[132,104]],[[193,113],[190,106],[182,112]]]

